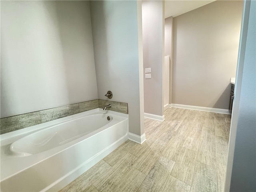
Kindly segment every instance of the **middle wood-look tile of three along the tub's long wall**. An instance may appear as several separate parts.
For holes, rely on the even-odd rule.
[[[79,104],[66,105],[40,111],[42,123],[77,114]]]

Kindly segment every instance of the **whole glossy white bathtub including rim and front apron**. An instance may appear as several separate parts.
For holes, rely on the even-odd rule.
[[[99,108],[2,134],[1,191],[58,191],[127,139],[128,115]]]

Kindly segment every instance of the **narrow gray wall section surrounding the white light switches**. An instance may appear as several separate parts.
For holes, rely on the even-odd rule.
[[[162,1],[142,1],[142,36],[144,67],[144,112],[164,114],[164,10]],[[151,79],[145,79],[145,68],[151,68]]]

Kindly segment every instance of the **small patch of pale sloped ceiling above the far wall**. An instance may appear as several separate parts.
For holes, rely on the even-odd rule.
[[[184,14],[215,0],[165,0],[164,18]]]

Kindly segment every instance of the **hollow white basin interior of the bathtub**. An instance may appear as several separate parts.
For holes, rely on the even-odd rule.
[[[38,154],[76,140],[87,135],[98,128],[109,126],[110,120],[104,114],[90,114],[89,116],[79,117],[75,121],[62,124],[62,126],[52,126],[39,130],[25,136],[10,145],[10,153],[13,156],[29,156]],[[86,120],[86,124],[84,123]],[[114,120],[116,122],[116,120]]]

